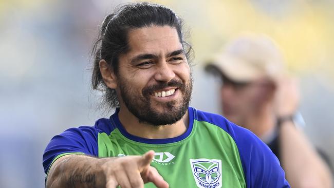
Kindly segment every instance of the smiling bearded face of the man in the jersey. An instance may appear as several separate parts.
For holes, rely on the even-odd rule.
[[[192,92],[190,67],[176,29],[135,29],[128,42],[117,78],[121,110],[127,108],[151,125],[176,123],[187,112]]]

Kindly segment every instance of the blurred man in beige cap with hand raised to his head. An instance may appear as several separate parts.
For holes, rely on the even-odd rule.
[[[331,187],[327,166],[294,125],[298,89],[269,37],[238,37],[206,69],[222,79],[222,114],[268,144],[291,187]]]

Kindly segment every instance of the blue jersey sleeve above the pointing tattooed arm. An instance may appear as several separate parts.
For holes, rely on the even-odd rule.
[[[95,127],[81,126],[69,128],[54,136],[43,154],[44,172],[47,173],[55,157],[65,153],[84,153],[98,156],[98,130]]]

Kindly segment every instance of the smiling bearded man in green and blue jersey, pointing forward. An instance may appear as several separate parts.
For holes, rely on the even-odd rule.
[[[92,85],[116,112],[52,138],[47,187],[289,187],[255,135],[189,107],[191,48],[181,26],[171,9],[150,3],[105,18]]]

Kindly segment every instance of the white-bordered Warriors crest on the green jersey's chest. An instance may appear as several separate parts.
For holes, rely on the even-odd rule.
[[[198,187],[221,187],[221,160],[190,159],[190,165]]]

